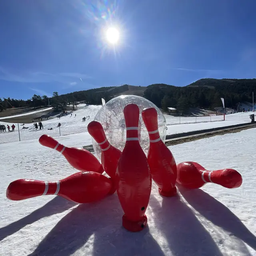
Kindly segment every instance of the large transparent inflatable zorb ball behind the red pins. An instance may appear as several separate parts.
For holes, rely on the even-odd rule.
[[[165,142],[166,137],[166,120],[162,112],[151,101],[135,95],[121,95],[107,102],[96,114],[94,120],[100,122],[106,133],[110,144],[119,150],[124,149],[126,142],[126,126],[124,120],[124,107],[127,104],[134,103],[140,109],[140,119],[138,125],[139,141],[144,153],[147,155],[149,148],[149,137],[145,124],[142,120],[142,110],[153,107],[158,114],[158,130],[160,138]],[[101,159],[101,149],[98,143],[92,138],[92,146],[96,155]]]

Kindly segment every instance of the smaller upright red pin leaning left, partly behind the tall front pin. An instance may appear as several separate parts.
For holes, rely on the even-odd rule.
[[[90,122],[87,126],[87,130],[101,148],[101,163],[103,169],[111,178],[116,178],[116,168],[121,151],[108,142],[103,127],[99,122]]]

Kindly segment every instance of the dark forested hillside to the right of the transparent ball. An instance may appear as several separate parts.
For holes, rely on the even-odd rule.
[[[144,97],[163,109],[174,107],[186,110],[189,106],[215,108],[225,106],[236,108],[239,102],[252,102],[252,92],[256,92],[256,79],[200,79],[185,87],[152,84],[147,87]]]

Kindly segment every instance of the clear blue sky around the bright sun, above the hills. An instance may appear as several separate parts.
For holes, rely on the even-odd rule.
[[[0,1],[0,97],[255,78],[255,10],[254,0]]]

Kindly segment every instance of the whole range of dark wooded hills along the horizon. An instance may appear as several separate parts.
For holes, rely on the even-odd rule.
[[[55,109],[63,109],[67,103],[86,102],[101,104],[101,98],[108,102],[121,94],[143,96],[156,106],[166,110],[174,107],[186,110],[188,107],[214,108],[222,106],[220,98],[225,99],[225,106],[235,108],[239,102],[252,102],[252,92],[256,89],[256,79],[200,79],[188,86],[177,87],[168,84],[152,84],[147,87],[130,86],[128,84],[116,87],[101,87],[97,89],[71,92],[58,95],[54,92],[50,105]],[[1,96],[1,95],[0,95]],[[11,107],[48,106],[48,97],[34,94],[28,100],[0,98],[0,110]]]

